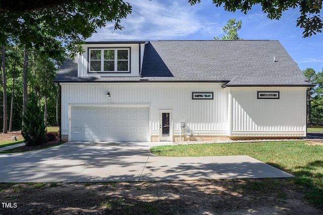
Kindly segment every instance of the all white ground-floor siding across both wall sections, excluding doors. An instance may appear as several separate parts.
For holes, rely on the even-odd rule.
[[[159,113],[172,110],[173,134],[186,122],[194,135],[305,136],[305,87],[231,87],[223,83],[61,83],[62,134],[68,135],[70,107],[148,106],[149,134],[159,135]],[[105,97],[107,92],[111,97]],[[257,99],[257,91],[280,91],[280,99]],[[214,92],[192,100],[192,92]]]

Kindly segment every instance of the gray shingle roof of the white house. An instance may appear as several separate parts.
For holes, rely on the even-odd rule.
[[[281,43],[275,40],[150,41],[145,45],[142,77],[77,77],[77,62],[67,60],[55,81],[140,79],[226,82],[226,86],[311,86]]]

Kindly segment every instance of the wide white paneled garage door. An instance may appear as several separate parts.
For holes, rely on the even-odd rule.
[[[71,141],[148,141],[148,106],[72,106]]]

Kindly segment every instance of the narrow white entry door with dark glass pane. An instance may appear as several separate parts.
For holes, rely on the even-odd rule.
[[[172,112],[170,111],[160,112],[159,141],[173,141]]]

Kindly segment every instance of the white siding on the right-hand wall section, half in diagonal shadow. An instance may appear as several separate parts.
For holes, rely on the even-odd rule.
[[[257,99],[257,91],[280,91]],[[306,136],[306,87],[232,87],[231,136]]]

